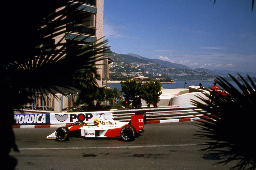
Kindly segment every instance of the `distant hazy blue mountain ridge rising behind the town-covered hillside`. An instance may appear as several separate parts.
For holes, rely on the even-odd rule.
[[[159,59],[150,59],[150,58],[142,57],[140,55],[132,54],[132,53],[128,53],[127,55],[137,57],[137,58],[140,58],[140,59],[145,60],[145,61],[150,61],[150,62],[153,62],[153,63],[156,63],[156,64],[160,64],[160,65],[162,65],[164,67],[167,67],[167,68],[193,70],[192,68],[184,66],[182,64],[171,63],[171,62],[163,61],[163,60],[159,60]]]

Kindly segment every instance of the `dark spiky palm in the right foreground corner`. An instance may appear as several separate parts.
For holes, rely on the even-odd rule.
[[[215,82],[226,90],[227,97],[218,93],[205,94],[210,100],[202,98],[201,100],[206,104],[193,101],[197,107],[211,113],[211,115],[201,113],[208,118],[201,117],[206,121],[200,121],[198,126],[201,131],[196,135],[207,139],[204,146],[208,147],[202,149],[202,151],[211,151],[226,158],[219,164],[227,164],[236,160],[239,162],[233,168],[255,169],[256,86],[249,76],[247,76],[247,82],[239,75],[242,84],[232,75],[229,76],[241,90],[232,86],[224,78],[219,77]]]

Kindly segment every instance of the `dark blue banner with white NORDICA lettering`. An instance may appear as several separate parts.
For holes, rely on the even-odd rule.
[[[17,114],[14,125],[50,124],[50,114]]]

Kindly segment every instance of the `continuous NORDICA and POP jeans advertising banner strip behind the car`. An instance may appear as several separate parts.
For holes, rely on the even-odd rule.
[[[68,124],[75,121],[93,123],[94,119],[113,120],[113,112],[72,112],[72,113],[46,113],[46,114],[16,114],[14,125],[35,124]]]

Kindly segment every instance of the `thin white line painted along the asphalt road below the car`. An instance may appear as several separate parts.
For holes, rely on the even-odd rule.
[[[68,148],[19,148],[19,150],[63,150],[63,149],[124,149],[124,148],[153,148],[153,147],[179,147],[202,145],[203,143],[187,143],[178,145],[143,145],[143,146],[119,146],[119,147],[68,147]]]

